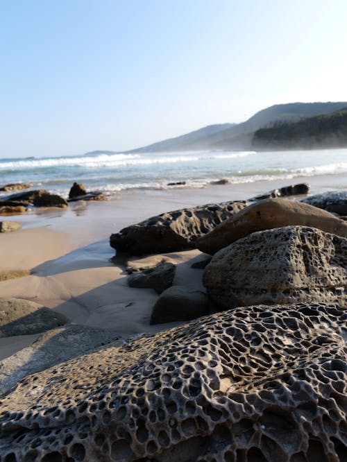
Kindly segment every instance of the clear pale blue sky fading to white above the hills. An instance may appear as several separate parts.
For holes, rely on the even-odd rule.
[[[346,0],[0,0],[0,157],[347,101]]]

